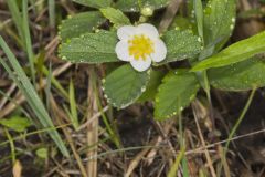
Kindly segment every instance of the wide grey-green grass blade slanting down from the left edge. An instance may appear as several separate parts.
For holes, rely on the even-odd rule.
[[[9,62],[13,69],[12,70],[7,65],[3,59],[0,58],[1,64],[4,66],[4,69],[8,71],[8,73],[12,76],[14,82],[17,83],[20,91],[25,96],[29,105],[31,106],[32,111],[35,113],[36,117],[41,122],[43,127],[54,127],[53,122],[51,121],[51,117],[49,116],[49,113],[46,112],[42,101],[40,100],[39,95],[36,94],[33,85],[30,83],[29,79],[26,77],[24,71],[22,70],[21,65],[19,64],[18,60],[15,59],[14,54],[11,52],[2,37],[0,37],[0,46],[7,54]],[[67,148],[65,147],[62,138],[60,137],[59,133],[54,131],[49,132],[51,138],[54,140],[54,143],[57,145],[61,153],[68,157],[70,154],[67,152]]]

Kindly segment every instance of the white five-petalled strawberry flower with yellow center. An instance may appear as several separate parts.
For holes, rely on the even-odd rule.
[[[124,25],[118,29],[117,35],[120,40],[115,49],[118,59],[130,62],[139,72],[148,70],[151,62],[166,59],[167,48],[151,24]]]

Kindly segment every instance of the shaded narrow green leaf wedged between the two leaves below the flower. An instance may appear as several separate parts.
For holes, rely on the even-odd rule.
[[[138,102],[155,100],[155,96],[158,91],[158,86],[161,84],[163,76],[165,76],[165,73],[162,71],[151,70],[150,80],[147,84],[147,88],[138,98]]]

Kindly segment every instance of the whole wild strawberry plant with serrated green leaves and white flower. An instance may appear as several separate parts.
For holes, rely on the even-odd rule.
[[[63,21],[60,55],[74,63],[117,63],[103,79],[115,107],[151,101],[162,121],[179,114],[200,88],[265,86],[265,32],[224,46],[235,25],[235,0],[188,0],[188,15],[177,14],[162,33],[156,14],[170,0],[73,1],[95,10]]]

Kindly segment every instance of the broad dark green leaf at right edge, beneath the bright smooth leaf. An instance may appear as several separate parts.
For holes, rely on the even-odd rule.
[[[208,76],[211,85],[224,91],[247,91],[265,86],[265,58],[246,61],[219,69],[211,69]]]

